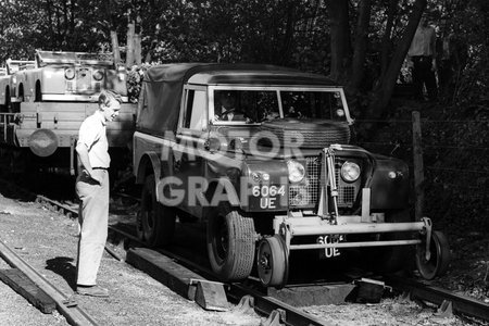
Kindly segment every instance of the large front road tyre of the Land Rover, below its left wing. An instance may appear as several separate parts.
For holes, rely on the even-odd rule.
[[[253,218],[222,204],[210,212],[206,234],[212,271],[226,281],[247,278],[255,249]]]

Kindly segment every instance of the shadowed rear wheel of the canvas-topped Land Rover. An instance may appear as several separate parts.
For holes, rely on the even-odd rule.
[[[146,177],[137,216],[138,237],[148,247],[167,246],[175,231],[176,212],[156,201],[154,175]]]

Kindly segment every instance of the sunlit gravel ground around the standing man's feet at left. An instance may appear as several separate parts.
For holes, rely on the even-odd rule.
[[[2,192],[2,191],[0,191]],[[77,223],[34,202],[0,196],[0,240],[59,287],[73,293]],[[0,260],[1,268],[9,266]],[[99,325],[260,325],[255,315],[208,312],[142,272],[104,253],[98,281],[108,299],[76,296]],[[0,325],[67,325],[58,312],[45,315],[0,283]]]

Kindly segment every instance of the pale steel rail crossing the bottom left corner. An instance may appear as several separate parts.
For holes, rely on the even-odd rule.
[[[78,305],[68,308],[65,300],[68,299],[59,288],[54,287],[49,280],[39,274],[32,265],[20,258],[0,239],[0,256],[14,268],[23,272],[32,281],[42,289],[57,303],[58,311],[66,318],[70,325],[86,326],[98,325],[91,316]]]

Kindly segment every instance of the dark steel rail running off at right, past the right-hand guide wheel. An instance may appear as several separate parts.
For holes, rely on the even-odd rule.
[[[440,305],[443,301],[450,301],[452,309],[460,314],[489,321],[489,304],[480,300],[460,296],[449,290],[426,285],[414,279],[399,276],[385,276],[386,284],[411,292],[411,298],[425,300]]]

